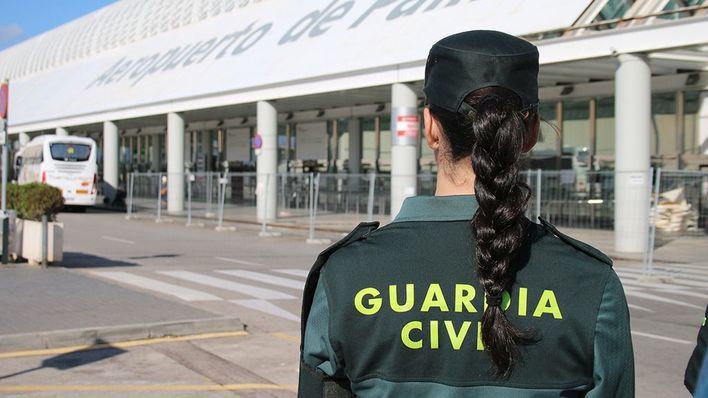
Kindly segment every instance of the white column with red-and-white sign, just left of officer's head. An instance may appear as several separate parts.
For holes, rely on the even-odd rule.
[[[391,219],[405,198],[416,195],[419,134],[418,96],[408,85],[395,83],[391,86]]]

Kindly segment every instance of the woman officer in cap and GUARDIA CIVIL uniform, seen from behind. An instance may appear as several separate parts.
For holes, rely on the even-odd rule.
[[[324,251],[303,300],[301,397],[633,397],[612,261],[524,217],[538,51],[447,37],[425,71],[436,196]]]

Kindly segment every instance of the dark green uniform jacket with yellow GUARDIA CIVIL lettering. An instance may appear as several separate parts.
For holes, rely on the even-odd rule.
[[[469,195],[408,198],[393,223],[326,252],[303,307],[301,397],[328,396],[305,385],[311,373],[362,398],[634,396],[629,311],[611,260],[547,223],[529,222],[502,304],[537,341],[521,347],[509,379],[491,374],[476,210]]]

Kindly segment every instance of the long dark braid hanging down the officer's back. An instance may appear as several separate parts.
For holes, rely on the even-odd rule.
[[[479,210],[472,220],[477,242],[477,275],[489,296],[501,296],[513,282],[516,258],[524,238],[524,212],[531,190],[519,179],[526,124],[510,101],[496,96],[478,103],[470,119],[474,134],[472,168]],[[482,341],[491,353],[495,373],[506,377],[518,357],[518,345],[531,333],[515,328],[500,306],[489,305],[482,316]]]

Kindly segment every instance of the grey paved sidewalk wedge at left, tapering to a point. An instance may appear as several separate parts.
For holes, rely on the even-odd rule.
[[[93,344],[102,336],[132,340],[204,332],[200,323],[241,326],[236,319],[63,268],[0,268],[0,303],[0,351]]]

